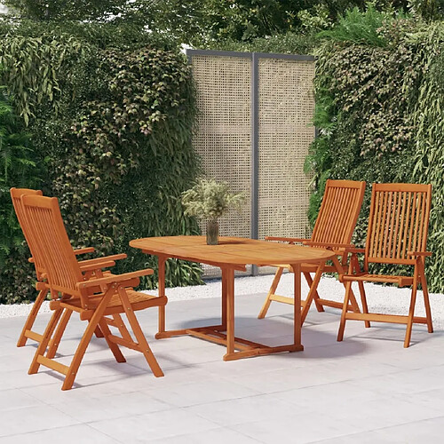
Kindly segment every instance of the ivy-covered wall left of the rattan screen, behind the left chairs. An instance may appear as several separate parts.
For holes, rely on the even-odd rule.
[[[44,168],[44,194],[59,197],[73,245],[127,252],[118,272],[155,267],[130,249],[131,239],[198,233],[180,203],[199,165],[186,59],[158,40],[148,44],[146,35],[131,40],[128,29],[113,46],[103,25],[83,34],[42,27],[36,25],[39,36],[29,24],[14,32],[0,27],[0,63],[1,82]],[[23,254],[10,259],[21,264]],[[20,267],[2,274],[0,302],[16,302]],[[198,283],[201,274],[196,265],[171,261],[167,284]],[[20,299],[33,296],[32,289],[20,292]]]

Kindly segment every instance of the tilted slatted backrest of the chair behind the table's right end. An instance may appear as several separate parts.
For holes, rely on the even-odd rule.
[[[358,220],[365,182],[327,180],[312,241],[350,243]]]

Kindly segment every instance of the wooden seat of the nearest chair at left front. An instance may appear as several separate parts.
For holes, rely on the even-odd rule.
[[[167,297],[148,295],[147,293],[141,293],[140,291],[135,291],[133,289],[126,289],[126,293],[128,295],[132,310],[134,312],[137,312],[138,310],[143,310],[150,306],[162,306],[165,305],[168,301]],[[84,321],[91,318],[95,309],[102,300],[102,297],[103,293],[95,297],[91,297],[89,299],[89,307],[87,309],[82,307],[79,298],[52,301],[51,308],[52,310],[58,307],[70,308],[75,312],[81,313],[80,317]],[[115,295],[111,297],[111,300],[107,305],[107,309],[105,310],[104,316],[107,316],[108,314],[124,313],[124,311],[125,310],[123,308],[119,294],[115,293]]]

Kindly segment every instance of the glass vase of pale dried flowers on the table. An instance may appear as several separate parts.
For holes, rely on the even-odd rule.
[[[199,178],[196,184],[182,193],[186,216],[207,219],[207,243],[218,245],[218,218],[227,210],[240,210],[244,193],[232,193],[226,182],[214,178]]]

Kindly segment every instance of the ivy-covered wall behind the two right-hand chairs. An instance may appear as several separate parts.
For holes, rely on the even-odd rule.
[[[321,45],[316,66],[317,138],[306,161],[316,192],[309,216],[319,210],[327,178],[432,183],[427,275],[432,291],[444,290],[442,63],[444,26],[386,12],[346,13]],[[371,186],[355,230],[367,235]],[[389,266],[375,268],[390,272]]]

